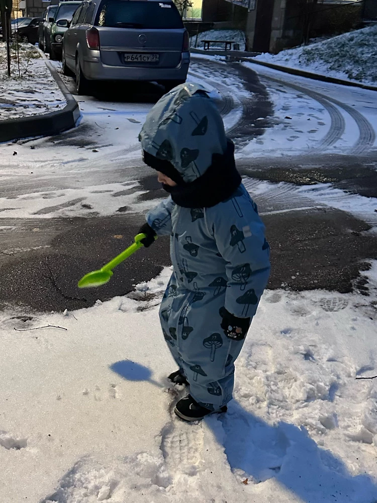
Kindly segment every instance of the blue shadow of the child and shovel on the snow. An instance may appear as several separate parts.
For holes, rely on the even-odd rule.
[[[110,368],[124,379],[163,387],[152,379],[149,368],[130,360]],[[377,487],[371,478],[352,476],[344,463],[318,447],[304,428],[283,422],[270,426],[236,400],[229,403],[226,414],[209,416],[205,422],[224,446],[232,471],[242,480],[248,478],[248,485],[275,478],[308,503],[377,501]]]

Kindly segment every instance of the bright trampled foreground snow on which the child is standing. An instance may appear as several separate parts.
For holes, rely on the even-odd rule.
[[[139,253],[142,253],[140,251]],[[370,297],[265,292],[227,414],[187,425],[158,324],[171,273],[138,298],[0,314],[0,500],[371,503],[377,499],[377,265]],[[46,327],[57,325],[62,328]],[[66,330],[64,330],[66,328]]]

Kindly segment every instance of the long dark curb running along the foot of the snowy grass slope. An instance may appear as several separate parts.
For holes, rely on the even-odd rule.
[[[377,87],[367,86],[366,84],[362,84],[361,82],[351,82],[349,80],[343,80],[341,78],[336,78],[336,77],[328,77],[327,75],[312,73],[312,72],[306,71],[306,70],[299,70],[297,68],[289,68],[287,66],[280,66],[277,64],[273,64],[273,63],[267,63],[266,61],[259,61],[258,59],[254,59],[253,57],[240,57],[240,56],[236,56],[236,55],[233,56],[232,54],[229,53],[229,51],[215,52],[215,51],[202,51],[200,49],[194,49],[194,50],[192,49],[191,52],[194,54],[209,54],[211,52],[211,55],[225,56],[227,61],[233,61],[233,62],[242,61],[245,63],[255,63],[255,64],[259,64],[261,66],[266,66],[267,68],[271,68],[273,70],[278,70],[278,71],[282,71],[285,73],[290,73],[291,75],[297,75],[299,77],[312,78],[313,80],[321,80],[322,82],[329,82],[332,84],[340,84],[341,86],[349,86],[349,87],[367,89],[369,91],[377,91]],[[254,55],[254,53],[252,53],[252,52],[250,54]]]

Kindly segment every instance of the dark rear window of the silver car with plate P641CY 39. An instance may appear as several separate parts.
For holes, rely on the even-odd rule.
[[[112,28],[183,28],[173,3],[148,0],[102,0],[96,24]]]

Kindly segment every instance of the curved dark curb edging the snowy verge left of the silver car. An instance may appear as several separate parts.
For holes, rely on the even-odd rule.
[[[66,106],[56,112],[0,121],[0,142],[33,136],[51,136],[75,127],[80,117],[78,104],[45,55],[43,59],[64,95]]]

